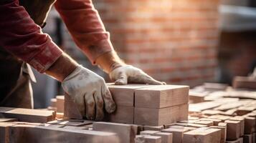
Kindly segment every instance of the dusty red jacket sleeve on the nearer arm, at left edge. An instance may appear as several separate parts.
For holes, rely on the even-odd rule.
[[[18,0],[0,3],[0,46],[44,72],[62,54],[47,34],[34,23]]]

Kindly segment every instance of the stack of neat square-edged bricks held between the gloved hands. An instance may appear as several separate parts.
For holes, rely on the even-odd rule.
[[[105,121],[162,126],[187,119],[189,107],[187,86],[108,84],[108,88],[117,109],[113,114],[108,114]],[[74,105],[65,104],[65,106],[72,108],[70,111],[65,111],[65,114],[74,113]],[[180,114],[181,112],[183,114]]]

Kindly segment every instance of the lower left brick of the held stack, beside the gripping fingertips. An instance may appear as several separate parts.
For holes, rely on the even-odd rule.
[[[133,124],[134,107],[118,105],[115,112],[105,114],[105,121]]]

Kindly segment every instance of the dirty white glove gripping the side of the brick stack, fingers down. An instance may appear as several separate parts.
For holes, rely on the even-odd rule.
[[[89,69],[77,66],[62,82],[64,91],[74,100],[83,117],[100,121],[103,107],[108,113],[115,111],[115,102],[102,77]]]

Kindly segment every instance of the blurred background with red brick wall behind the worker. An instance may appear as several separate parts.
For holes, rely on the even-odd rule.
[[[255,0],[93,0],[119,56],[153,78],[194,87],[232,83],[256,66]],[[80,52],[57,11],[43,31],[80,64],[110,82]],[[35,71],[34,107],[62,94],[60,83]],[[43,88],[42,88],[43,87]]]

